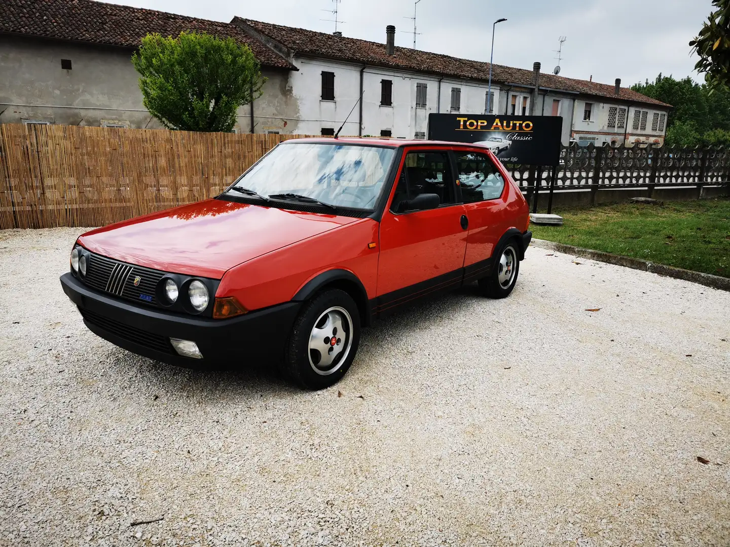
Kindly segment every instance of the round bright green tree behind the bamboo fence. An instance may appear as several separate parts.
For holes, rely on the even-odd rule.
[[[148,34],[132,63],[145,108],[168,129],[231,131],[265,82],[247,45],[204,33]]]

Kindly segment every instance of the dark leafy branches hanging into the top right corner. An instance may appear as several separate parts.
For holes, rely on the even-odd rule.
[[[717,89],[730,89],[730,0],[712,0],[717,7],[707,17],[689,44],[699,55],[694,68],[704,72],[704,81],[710,86],[710,93]]]

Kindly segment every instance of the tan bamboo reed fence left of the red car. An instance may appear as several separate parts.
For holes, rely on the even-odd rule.
[[[302,136],[0,125],[0,229],[103,226],[210,198]]]

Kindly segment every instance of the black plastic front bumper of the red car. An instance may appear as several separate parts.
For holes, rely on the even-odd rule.
[[[70,272],[61,276],[61,287],[91,332],[130,352],[191,368],[279,360],[301,307],[288,302],[232,319],[209,319],[127,303],[87,287]],[[170,338],[192,340],[203,358],[178,355]]]

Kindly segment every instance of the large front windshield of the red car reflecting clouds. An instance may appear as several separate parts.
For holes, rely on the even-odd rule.
[[[374,209],[394,154],[394,148],[280,144],[234,186],[265,197],[299,194],[345,209]]]

